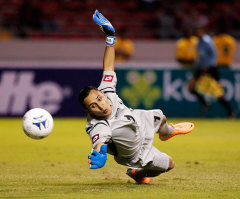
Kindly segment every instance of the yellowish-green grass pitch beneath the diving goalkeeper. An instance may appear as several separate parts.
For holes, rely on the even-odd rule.
[[[89,169],[83,119],[55,119],[42,140],[27,137],[21,119],[0,119],[0,198],[240,198],[240,120],[188,121],[191,134],[154,141],[175,168],[138,185],[110,156],[104,168]]]

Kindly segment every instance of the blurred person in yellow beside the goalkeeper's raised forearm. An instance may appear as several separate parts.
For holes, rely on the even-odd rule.
[[[124,62],[134,55],[135,49],[133,42],[127,38],[127,29],[122,27],[118,31],[117,42],[115,44],[116,62]]]

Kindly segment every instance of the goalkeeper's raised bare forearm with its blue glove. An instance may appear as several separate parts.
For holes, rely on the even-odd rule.
[[[106,35],[106,48],[103,57],[103,70],[114,71],[116,43],[115,29],[112,24],[98,10],[93,15],[93,20],[100,26],[100,29]]]

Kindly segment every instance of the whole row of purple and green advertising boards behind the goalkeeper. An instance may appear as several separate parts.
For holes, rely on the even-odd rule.
[[[226,117],[218,103],[201,113],[200,104],[188,92],[190,70],[117,69],[117,93],[131,108],[162,109],[168,117]],[[240,70],[221,70],[225,97],[236,112],[240,109]],[[77,102],[79,90],[98,86],[100,69],[1,68],[0,116],[22,116],[28,109],[41,107],[54,116],[86,116]],[[206,96],[210,102],[216,100]]]

